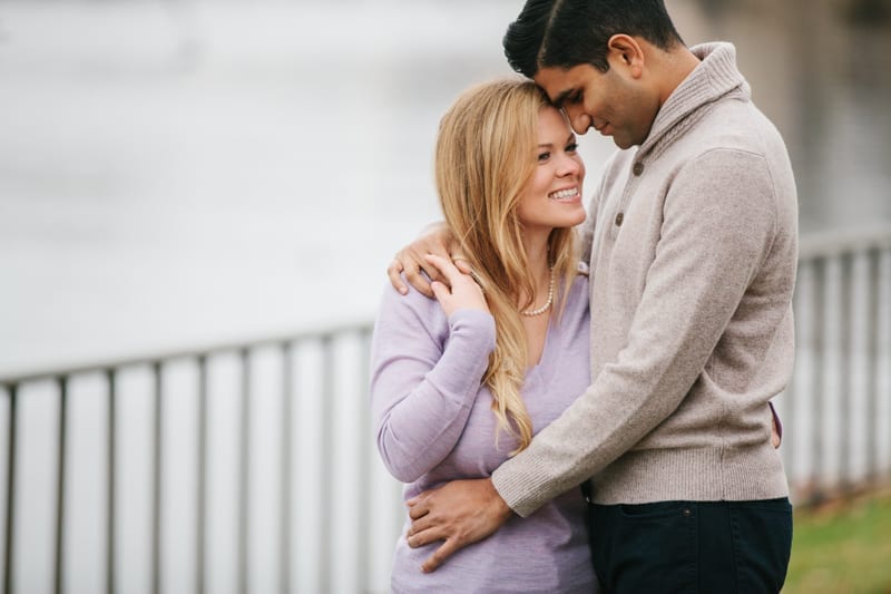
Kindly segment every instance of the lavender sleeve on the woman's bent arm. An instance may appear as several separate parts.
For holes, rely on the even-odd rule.
[[[389,284],[371,347],[371,410],[390,473],[412,483],[442,461],[464,429],[495,349],[488,312],[446,320],[435,300]]]

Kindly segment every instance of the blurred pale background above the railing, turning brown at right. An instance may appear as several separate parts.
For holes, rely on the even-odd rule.
[[[803,233],[891,221],[882,1],[667,4],[736,43]],[[1,2],[0,372],[370,320],[439,217],[438,119],[510,74],[520,6]],[[611,150],[582,140],[588,188]]]

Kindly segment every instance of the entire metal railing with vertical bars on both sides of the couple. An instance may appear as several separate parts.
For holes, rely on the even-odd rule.
[[[888,483],[891,230],[805,237],[795,310],[795,374],[776,399],[793,499]],[[386,591],[403,512],[370,431],[370,324],[355,324],[0,378],[8,403],[3,592]],[[85,393],[92,415],[77,412]],[[28,399],[55,409],[55,426],[51,413],[25,411]],[[145,403],[141,412],[135,401]],[[82,418],[92,419],[92,431],[78,428]],[[72,454],[94,432],[105,438],[94,456]],[[51,519],[42,519],[52,529],[38,544],[26,538],[40,513],[25,504],[42,490],[22,473],[29,434],[45,436],[36,447],[55,448],[55,459],[45,456],[56,475],[45,480]],[[147,452],[141,480],[130,477],[140,468],[130,464],[134,448]],[[185,471],[177,474],[178,464]],[[91,491],[100,499],[92,525],[101,529],[92,537],[101,553],[75,561],[79,537],[69,532],[80,508],[72,480],[90,467],[102,483],[104,493]],[[134,493],[147,494],[141,508]],[[228,506],[218,502],[226,497]],[[145,529],[123,526],[140,509]],[[212,533],[221,532],[228,551],[212,546]],[[148,543],[140,554],[127,554],[140,541]],[[172,555],[192,563],[175,565]],[[94,580],[85,585],[90,563]],[[143,587],[134,584],[139,575]]]

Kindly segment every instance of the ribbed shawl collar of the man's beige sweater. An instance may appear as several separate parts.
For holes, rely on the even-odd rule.
[[[733,43],[702,43],[689,49],[702,61],[659,108],[649,136],[640,145],[638,157],[648,153],[678,121],[703,105],[730,92],[738,92],[745,100],[751,98],[748,82],[736,68],[736,48]]]

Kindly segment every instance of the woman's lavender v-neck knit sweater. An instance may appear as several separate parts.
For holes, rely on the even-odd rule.
[[[562,317],[551,317],[539,364],[527,371],[522,398],[535,432],[590,383],[589,327],[588,279],[578,275]],[[481,386],[495,332],[487,312],[458,310],[447,319],[437,301],[413,289],[401,296],[386,284],[372,340],[371,408],[378,449],[405,483],[405,499],[444,481],[488,477],[516,447],[505,432],[496,445],[491,393]],[[441,543],[413,549],[403,530],[392,591],[596,592],[584,514],[572,489],[528,518],[510,518],[430,574],[420,566]]]

